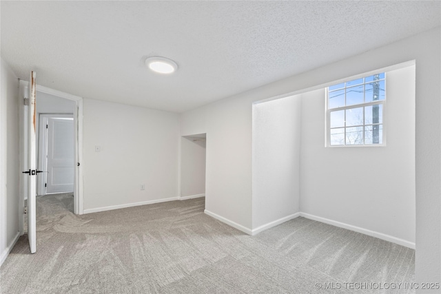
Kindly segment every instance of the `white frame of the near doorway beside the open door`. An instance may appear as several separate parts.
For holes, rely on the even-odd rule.
[[[23,98],[27,97],[28,82],[20,80],[19,83],[19,129],[20,129],[20,153],[26,154],[26,148],[28,147],[28,140],[25,136],[26,127],[25,119],[27,119],[27,109],[23,103]],[[80,165],[76,166],[74,173],[74,213],[83,214],[83,97],[75,96],[58,90],[53,90],[49,87],[44,87],[37,85],[37,92],[43,92],[46,94],[51,94],[53,96],[58,96],[60,98],[65,98],[76,102],[76,107],[74,107],[74,132],[75,132],[75,162],[79,162]],[[38,97],[37,97],[38,103]],[[24,123],[24,124],[23,124]],[[26,158],[25,156],[20,156],[20,168],[25,170]],[[24,160],[23,160],[24,158]],[[19,194],[19,230],[21,235],[24,233],[24,206],[25,206],[25,195],[28,191],[28,184],[24,176],[20,177],[20,194]]]

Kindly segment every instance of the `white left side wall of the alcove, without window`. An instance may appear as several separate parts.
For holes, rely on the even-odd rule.
[[[300,105],[300,95],[253,105],[253,229],[299,212]]]

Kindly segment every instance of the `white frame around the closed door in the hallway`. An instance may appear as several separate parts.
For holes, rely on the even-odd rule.
[[[49,118],[74,118],[73,113],[40,113],[39,114],[39,131],[37,143],[37,169],[47,171],[48,166],[48,129],[45,125]],[[75,126],[74,126],[75,127]],[[45,183],[48,182],[48,173],[41,173],[37,178],[37,195],[46,195]]]

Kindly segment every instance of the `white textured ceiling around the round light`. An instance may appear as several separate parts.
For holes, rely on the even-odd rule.
[[[1,57],[21,79],[172,112],[441,25],[441,1],[1,1]],[[424,44],[422,44],[424,45]],[[178,63],[150,72],[147,56]]]

